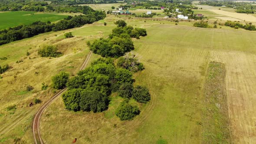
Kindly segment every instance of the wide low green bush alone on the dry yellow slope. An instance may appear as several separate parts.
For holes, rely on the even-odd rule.
[[[61,56],[60,52],[57,52],[56,46],[44,46],[38,50],[38,55],[42,57],[58,57]]]

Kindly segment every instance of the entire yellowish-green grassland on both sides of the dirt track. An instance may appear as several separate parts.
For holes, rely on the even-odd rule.
[[[103,7],[103,6],[102,6]],[[204,10],[205,11],[205,10]],[[202,11],[203,13],[203,11]],[[213,14],[205,11],[205,13]],[[213,16],[214,17],[214,16]],[[71,143],[76,137],[84,143],[202,143],[205,85],[209,62],[222,62],[226,77],[226,105],[234,143],[256,142],[253,129],[256,115],[256,32],[222,26],[220,29],[193,27],[193,21],[174,22],[108,16],[105,20],[59,32],[49,32],[0,46],[0,65],[12,68],[0,79],[0,142],[12,143],[17,138],[33,143],[33,115],[42,104],[28,107],[34,98],[43,103],[54,94],[52,88],[41,91],[41,84],[51,85],[51,76],[60,70],[75,75],[89,53],[87,41],[106,37],[115,28],[115,20],[147,29],[148,36],[133,39],[133,51],[145,69],[134,75],[135,85],[147,86],[151,93],[148,104],[139,105],[141,113],[132,121],[120,121],[115,108],[122,101],[116,93],[108,110],[102,113],[73,112],[64,108],[59,97],[44,112],[40,128],[46,144]],[[215,18],[214,18],[215,20]],[[209,20],[211,23],[213,19]],[[106,22],[107,26],[103,23]],[[64,39],[64,32],[75,37]],[[43,45],[56,45],[64,55],[41,58],[37,50]],[[26,56],[26,52],[30,56]],[[92,60],[100,56],[93,54]],[[22,59],[23,62],[15,63]],[[223,68],[224,69],[224,68]],[[223,80],[224,79],[224,80]],[[26,85],[34,87],[26,91]],[[11,85],[11,86],[10,86]],[[131,101],[133,102],[133,101]],[[225,103],[225,101],[223,102]],[[16,109],[7,107],[16,105]],[[209,105],[207,108],[212,108]],[[220,122],[209,121],[209,125]],[[116,127],[114,126],[116,125]],[[211,133],[216,136],[216,133]],[[225,141],[220,140],[220,143]]]

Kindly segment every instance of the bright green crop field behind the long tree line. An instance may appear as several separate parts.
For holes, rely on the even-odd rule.
[[[7,27],[18,26],[20,24],[31,24],[35,21],[55,22],[57,20],[64,19],[67,16],[56,14],[43,14],[30,11],[16,11],[16,12],[4,12],[0,13],[0,29]]]

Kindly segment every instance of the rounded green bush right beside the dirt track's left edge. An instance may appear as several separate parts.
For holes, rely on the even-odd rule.
[[[66,87],[66,83],[69,81],[69,73],[59,72],[59,74],[52,77],[53,88],[62,89]]]

